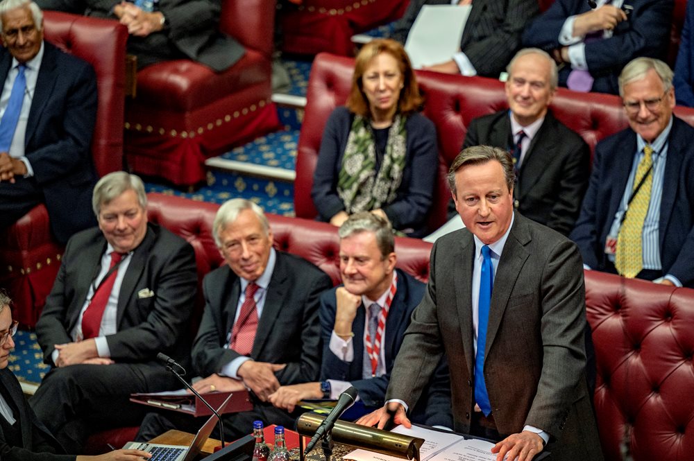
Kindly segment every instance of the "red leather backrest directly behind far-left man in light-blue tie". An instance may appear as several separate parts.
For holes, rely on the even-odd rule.
[[[109,19],[44,11],[44,31],[46,40],[94,67],[99,92],[94,166],[100,176],[122,170],[128,29]]]

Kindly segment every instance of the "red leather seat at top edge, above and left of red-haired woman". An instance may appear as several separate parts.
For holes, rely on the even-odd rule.
[[[403,0],[303,0],[278,2],[282,51],[314,55],[327,51],[352,56],[352,35],[403,16]]]

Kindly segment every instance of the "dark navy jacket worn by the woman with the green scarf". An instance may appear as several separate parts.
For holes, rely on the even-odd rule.
[[[319,219],[329,221],[344,203],[337,195],[337,177],[354,119],[346,107],[337,107],[325,123],[321,150],[313,175],[311,197]],[[409,236],[423,236],[434,196],[439,168],[436,127],[422,114],[412,114],[405,123],[407,141],[403,180],[393,202],[382,207],[393,229],[414,229]]]

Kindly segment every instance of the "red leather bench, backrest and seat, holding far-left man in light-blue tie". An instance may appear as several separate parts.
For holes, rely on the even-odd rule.
[[[99,105],[92,157],[99,175],[123,168],[124,87],[128,29],[116,21],[45,11],[46,40],[90,62],[96,71]],[[58,273],[63,248],[39,205],[0,233],[0,285],[14,300],[14,315],[33,327]]]

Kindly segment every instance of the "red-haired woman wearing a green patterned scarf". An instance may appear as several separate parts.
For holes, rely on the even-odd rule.
[[[409,236],[425,234],[438,155],[436,128],[417,112],[421,103],[403,46],[364,45],[346,106],[323,131],[311,191],[321,220],[339,226],[371,211]]]

